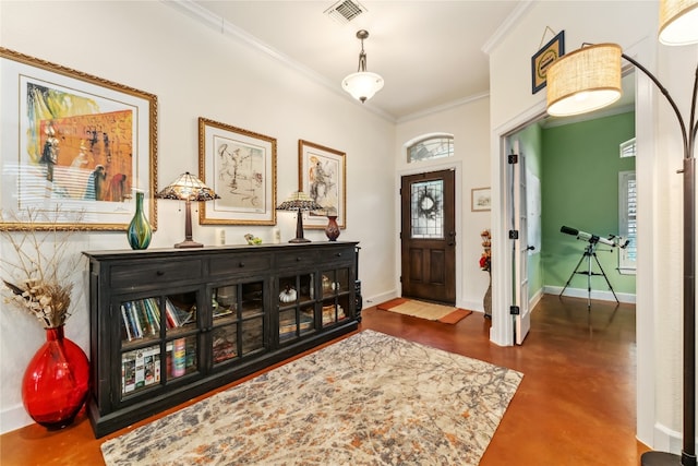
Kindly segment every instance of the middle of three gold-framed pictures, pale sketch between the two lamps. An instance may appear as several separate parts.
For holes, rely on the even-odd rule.
[[[202,225],[276,225],[276,139],[200,118],[198,176],[220,196]]]

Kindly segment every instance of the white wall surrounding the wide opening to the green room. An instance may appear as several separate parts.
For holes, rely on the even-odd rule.
[[[531,94],[530,58],[547,26],[565,31],[566,50],[582,43],[613,41],[657,73],[687,115],[691,70],[697,47],[683,50],[657,41],[658,3],[647,1],[534,2],[526,16],[491,50],[491,128],[494,193],[493,218],[503,218],[500,182],[500,138],[544,109],[545,92]],[[659,64],[657,64],[659,63]],[[640,73],[637,73],[640,74]],[[637,415],[638,438],[661,450],[679,450],[681,439],[681,327],[682,327],[682,198],[678,128],[655,88],[638,77],[638,296],[637,296]],[[504,234],[502,224],[494,235]],[[506,302],[502,244],[493,246],[495,312]],[[504,316],[502,314],[501,316]],[[496,314],[493,322],[496,321]],[[494,338],[506,337],[508,320],[500,320]]]

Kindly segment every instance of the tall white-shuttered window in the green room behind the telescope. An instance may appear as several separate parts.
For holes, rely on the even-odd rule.
[[[618,272],[635,274],[637,268],[637,183],[635,171],[618,174],[619,235],[629,242],[618,249]]]

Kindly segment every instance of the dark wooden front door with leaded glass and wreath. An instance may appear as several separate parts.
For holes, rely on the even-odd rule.
[[[406,298],[456,303],[455,171],[401,178],[401,285]]]

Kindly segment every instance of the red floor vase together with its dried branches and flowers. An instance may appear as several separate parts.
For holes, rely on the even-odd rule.
[[[70,316],[71,277],[81,271],[82,258],[71,249],[76,226],[59,229],[64,213],[28,208],[22,214],[27,227],[13,235],[0,230],[14,249],[14,258],[2,258],[2,279],[9,302],[38,319],[46,342],[29,361],[22,380],[22,401],[37,423],[50,429],[70,425],[88,392],[89,362],[85,353],[64,337]],[[80,225],[76,222],[74,225]]]

